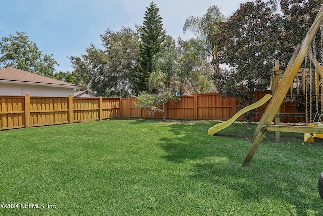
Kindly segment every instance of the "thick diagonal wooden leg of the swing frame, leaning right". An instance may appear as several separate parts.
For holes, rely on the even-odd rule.
[[[243,167],[247,167],[250,163],[250,161],[253,158],[253,155],[256,153],[263,137],[265,136],[266,130],[263,128],[263,125],[268,125],[272,122],[274,119],[277,111],[279,110],[280,105],[282,104],[285,95],[287,94],[287,91],[290,87],[290,83],[293,82],[293,79],[301,66],[305,55],[313,41],[313,38],[320,28],[320,25],[323,21],[323,5],[321,6],[311,28],[307,32],[302,45],[297,46],[291,60],[289,61],[288,67],[286,68],[282,80],[280,81],[278,88],[275,92],[275,94],[272,97],[271,102],[268,104],[262,118],[260,119],[260,122],[258,123],[257,128],[255,129],[255,132],[252,136],[252,146],[245,158],[245,160],[242,163]]]

